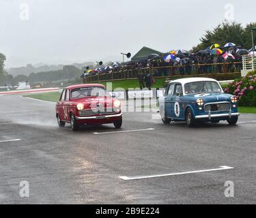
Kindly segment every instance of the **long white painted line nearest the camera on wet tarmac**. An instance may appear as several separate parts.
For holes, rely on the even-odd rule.
[[[197,170],[197,171],[190,171],[190,172],[177,172],[177,173],[170,173],[170,174],[160,174],[160,175],[152,175],[152,176],[119,176],[123,180],[136,180],[142,178],[156,178],[156,177],[163,177],[163,176],[175,176],[175,175],[183,175],[183,174],[193,174],[198,172],[211,172],[211,171],[218,171],[218,170],[231,170],[230,166],[220,166],[220,168],[211,169],[211,170]]]

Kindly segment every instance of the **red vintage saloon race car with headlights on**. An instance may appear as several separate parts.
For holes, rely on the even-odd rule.
[[[80,125],[113,123],[122,127],[121,102],[106,91],[102,84],[79,84],[63,89],[56,104],[59,127],[71,124],[73,131]]]

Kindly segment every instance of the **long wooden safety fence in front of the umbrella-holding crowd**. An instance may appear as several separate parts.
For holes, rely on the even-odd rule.
[[[105,82],[113,80],[126,80],[138,78],[139,73],[153,74],[154,77],[168,77],[174,76],[201,76],[203,74],[228,74],[240,73],[242,69],[242,62],[232,63],[210,63],[198,65],[173,65],[163,67],[145,67],[133,69],[121,69],[118,72],[114,70],[108,73],[100,73],[96,75],[87,76],[83,79],[84,83],[89,82]]]

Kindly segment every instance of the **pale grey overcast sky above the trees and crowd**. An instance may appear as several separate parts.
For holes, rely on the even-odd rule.
[[[142,46],[189,50],[225,18],[255,22],[255,8],[255,0],[0,0],[0,52],[18,67],[118,61]]]

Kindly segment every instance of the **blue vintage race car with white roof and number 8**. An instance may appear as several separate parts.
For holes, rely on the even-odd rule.
[[[193,127],[197,121],[229,125],[238,122],[238,98],[224,93],[218,81],[210,78],[185,78],[170,82],[165,96],[158,99],[165,124],[186,121]]]

